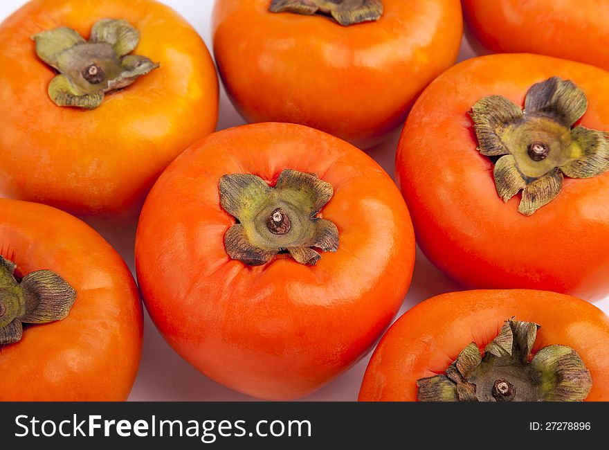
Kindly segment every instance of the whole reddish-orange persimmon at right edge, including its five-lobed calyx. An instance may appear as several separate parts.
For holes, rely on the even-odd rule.
[[[466,60],[430,84],[396,172],[439,269],[472,288],[609,293],[608,85],[597,67],[529,54]]]

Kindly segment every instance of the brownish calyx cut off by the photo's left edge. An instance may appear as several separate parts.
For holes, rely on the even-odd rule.
[[[76,291],[50,270],[15,278],[15,264],[0,255],[0,345],[21,341],[23,323],[48,323],[66,318]]]

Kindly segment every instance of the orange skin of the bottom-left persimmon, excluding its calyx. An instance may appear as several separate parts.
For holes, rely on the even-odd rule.
[[[142,348],[138,289],[125,262],[79,219],[26,201],[0,199],[0,255],[24,276],[50,269],[78,297],[62,321],[24,325],[0,346],[2,401],[122,401]]]

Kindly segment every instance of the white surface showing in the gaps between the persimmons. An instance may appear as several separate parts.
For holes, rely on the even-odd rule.
[[[103,0],[100,0],[103,1]],[[12,11],[26,2],[21,0],[3,0],[0,2],[0,20],[3,20]],[[210,30],[210,17],[213,7],[212,0],[165,0],[163,3],[172,6],[190,24],[197,29],[205,40],[208,48],[212,49]],[[476,46],[478,50],[478,46]],[[480,51],[478,54],[481,54]],[[474,56],[469,42],[463,39],[460,51],[460,60]],[[0,69],[1,70],[1,69]],[[230,104],[224,89],[221,89],[220,113],[217,129],[242,125],[244,120],[237,114]],[[397,147],[399,132],[395,132],[383,145],[370,150],[368,153],[376,159],[387,172],[393,176],[394,154]],[[136,224],[111,223],[108,221],[89,220],[106,239],[125,258],[127,264],[134,271],[134,237]],[[444,292],[456,291],[462,288],[448,279],[433,267],[424,255],[417,251],[417,264],[412,285],[404,301],[398,317],[410,307],[421,300]],[[609,312],[609,298],[597,303],[605,312]],[[305,400],[314,401],[352,401],[357,399],[361,379],[365,371],[370,354],[365,355],[343,375],[336,378],[327,386],[313,393]],[[233,401],[253,400],[252,397],[242,395],[225,388],[201,375],[201,373],[185,362],[165,343],[147,314],[145,318],[144,348],[140,364],[140,371],[129,396],[130,400],[160,400],[160,401]]]

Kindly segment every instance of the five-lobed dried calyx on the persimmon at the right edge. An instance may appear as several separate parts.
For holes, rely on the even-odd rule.
[[[534,84],[524,111],[503,96],[473,105],[480,154],[500,156],[493,177],[503,201],[522,190],[518,211],[531,215],[556,198],[564,177],[590,178],[609,170],[609,134],[573,127],[587,108],[585,93],[558,77]]]

